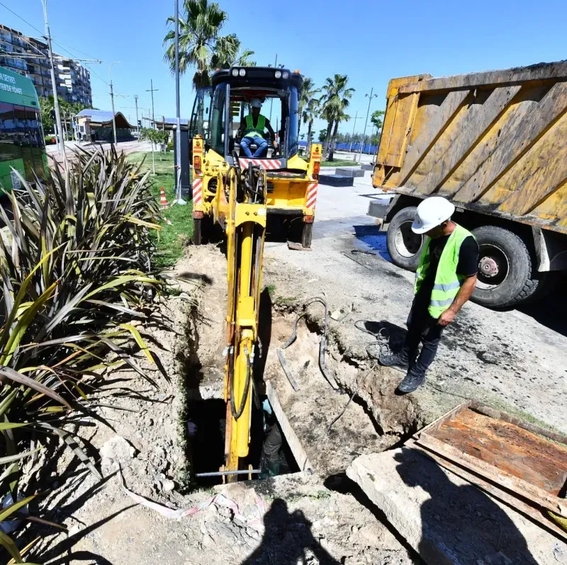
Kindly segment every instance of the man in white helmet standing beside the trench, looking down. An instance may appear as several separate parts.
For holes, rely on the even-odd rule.
[[[400,351],[380,355],[387,367],[407,369],[398,392],[413,392],[437,353],[442,331],[471,297],[478,271],[478,244],[471,232],[451,221],[455,207],[441,196],[420,202],[412,231],[425,234],[415,277],[408,335]],[[418,347],[422,343],[421,353]]]

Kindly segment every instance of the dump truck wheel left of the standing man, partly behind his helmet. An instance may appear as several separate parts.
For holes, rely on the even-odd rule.
[[[392,218],[386,234],[388,253],[394,265],[407,270],[417,270],[425,241],[424,236],[412,232],[412,222],[417,207],[403,208]]]

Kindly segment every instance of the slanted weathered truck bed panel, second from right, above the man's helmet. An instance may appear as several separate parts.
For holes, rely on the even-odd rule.
[[[520,104],[500,130],[493,153],[459,189],[456,200],[477,200],[566,111],[567,81],[551,86],[539,103]]]

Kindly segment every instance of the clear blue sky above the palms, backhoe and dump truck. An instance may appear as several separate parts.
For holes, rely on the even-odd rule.
[[[2,2],[43,31],[40,0]],[[383,109],[391,78],[504,69],[567,56],[564,0],[220,0],[219,4],[229,14],[223,33],[236,33],[245,48],[256,52],[258,64],[273,63],[277,53],[279,62],[300,69],[317,84],[332,74],[347,74],[349,85],[356,89],[349,113],[363,116],[356,123],[359,132],[368,107],[364,94],[374,88],[378,98],[373,99],[371,111]],[[175,83],[162,59],[165,20],[174,11],[173,0],[49,0],[48,10],[52,36],[59,43],[55,50],[76,58],[120,61],[113,66],[114,89],[128,98],[116,98],[117,109],[134,121],[135,110],[128,108],[134,106],[134,94],[140,96],[140,107],[150,108],[146,89],[153,79],[159,89],[156,117],[175,115]],[[0,6],[0,23],[40,35],[4,6]],[[110,109],[108,67],[90,64],[89,68],[101,77],[91,73],[94,105]],[[182,117],[189,117],[193,96],[188,74],[181,79]],[[352,127],[351,120],[339,131],[352,132]]]

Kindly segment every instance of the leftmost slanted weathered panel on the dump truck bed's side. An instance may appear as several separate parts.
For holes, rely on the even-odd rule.
[[[400,172],[400,184],[405,184],[415,166],[427,154],[427,149],[434,144],[470,92],[470,90],[449,92],[441,105],[432,104],[430,110],[426,110],[422,118],[422,123],[425,127],[417,136],[415,142],[408,146],[405,154],[403,167]]]

